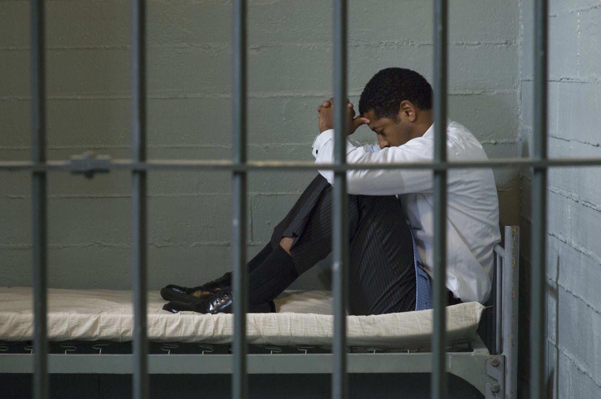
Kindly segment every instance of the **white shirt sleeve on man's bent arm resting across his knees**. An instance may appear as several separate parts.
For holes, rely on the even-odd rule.
[[[409,163],[432,161],[432,138],[412,139],[399,147],[375,151],[373,145],[358,147],[347,139],[347,163]],[[378,147],[379,148],[379,147]],[[370,151],[371,150],[371,151]],[[320,133],[313,142],[315,163],[334,162],[334,129]],[[330,184],[334,172],[320,170]],[[451,177],[451,176],[450,176]],[[393,195],[432,192],[431,169],[356,169],[347,171],[347,192],[358,195]]]

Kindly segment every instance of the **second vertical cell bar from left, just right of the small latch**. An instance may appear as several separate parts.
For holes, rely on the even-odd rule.
[[[133,0],[132,100],[133,159],[146,160],[146,2]],[[146,336],[147,206],[146,172],[132,171],[133,190],[133,398],[148,397],[148,340]]]

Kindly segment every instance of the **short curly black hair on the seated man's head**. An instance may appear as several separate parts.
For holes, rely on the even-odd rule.
[[[410,69],[386,68],[365,85],[359,98],[359,114],[373,110],[377,118],[397,120],[403,100],[419,109],[432,109],[432,86]]]

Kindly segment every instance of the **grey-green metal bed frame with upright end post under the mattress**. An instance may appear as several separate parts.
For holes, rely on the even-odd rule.
[[[491,301],[495,317],[483,317],[487,337],[494,346],[489,351],[475,335],[463,352],[447,352],[445,371],[473,385],[485,398],[516,398],[517,386],[517,275],[519,269],[519,228],[505,227],[505,247],[495,245],[495,284]],[[492,314],[492,312],[489,312]],[[98,354],[78,354],[76,346],[60,343],[63,353],[48,355],[49,373],[130,374],[131,355],[102,354],[102,344],[82,343]],[[161,343],[161,355],[148,355],[149,374],[215,374],[230,373],[234,355],[211,354],[212,345],[202,344],[207,353],[171,354],[177,344]],[[278,346],[262,346],[269,354],[249,354],[250,374],[329,374],[331,353],[309,353],[311,346],[299,346],[305,353],[280,353]],[[457,346],[460,347],[460,346]],[[457,350],[457,347],[451,350]],[[23,348],[32,350],[31,346]],[[432,352],[348,353],[347,373],[431,373]],[[2,343],[0,343],[0,351]],[[286,351],[289,352],[289,351]],[[323,352],[323,351],[319,351]],[[34,356],[30,353],[0,353],[0,373],[32,373]]]

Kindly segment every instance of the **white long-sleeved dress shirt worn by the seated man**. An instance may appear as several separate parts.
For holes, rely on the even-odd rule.
[[[488,159],[477,138],[457,122],[447,123],[449,161]],[[347,139],[348,163],[431,162],[434,125],[423,136],[398,147],[359,144]],[[313,142],[316,163],[334,162],[334,130]],[[330,184],[333,171],[319,171]],[[362,195],[398,195],[419,256],[430,276],[433,266],[433,172],[428,169],[353,170],[347,172],[348,192]],[[499,200],[492,169],[448,169],[447,172],[447,281],[448,290],[463,302],[486,302],[490,295],[493,246],[501,241]]]

